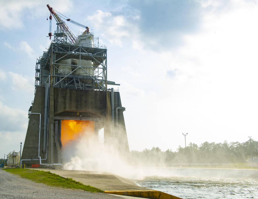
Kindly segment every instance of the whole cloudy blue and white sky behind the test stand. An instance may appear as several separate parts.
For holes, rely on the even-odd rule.
[[[1,158],[25,140],[46,4],[107,46],[130,150],[258,140],[257,0],[1,1]]]

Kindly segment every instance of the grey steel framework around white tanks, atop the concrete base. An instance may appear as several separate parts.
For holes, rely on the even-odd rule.
[[[71,59],[71,64],[59,63],[61,60]],[[91,60],[91,67],[80,65],[81,60]],[[59,66],[70,66],[71,72],[62,72]],[[90,75],[87,69],[94,73]],[[76,70],[82,69],[85,75],[76,75]],[[107,49],[106,47],[90,47],[87,45],[74,45],[70,43],[51,43],[47,52],[36,62],[35,87],[45,86],[50,76],[50,85],[53,87],[105,90],[107,85],[119,85],[107,81]],[[36,89],[35,89],[36,92]]]

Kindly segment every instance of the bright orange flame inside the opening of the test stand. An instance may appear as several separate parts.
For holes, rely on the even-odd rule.
[[[94,133],[94,121],[62,120],[62,145],[65,146],[67,143],[77,140],[85,132]]]

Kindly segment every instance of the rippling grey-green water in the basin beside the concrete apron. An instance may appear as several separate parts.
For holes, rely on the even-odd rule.
[[[156,172],[136,182],[184,199],[258,198],[258,170],[157,168]]]

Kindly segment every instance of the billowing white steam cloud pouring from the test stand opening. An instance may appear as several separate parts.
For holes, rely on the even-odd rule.
[[[134,179],[143,177],[133,172],[135,169],[118,152],[117,146],[104,146],[92,128],[83,128],[83,131],[63,146],[64,169],[109,172]]]

